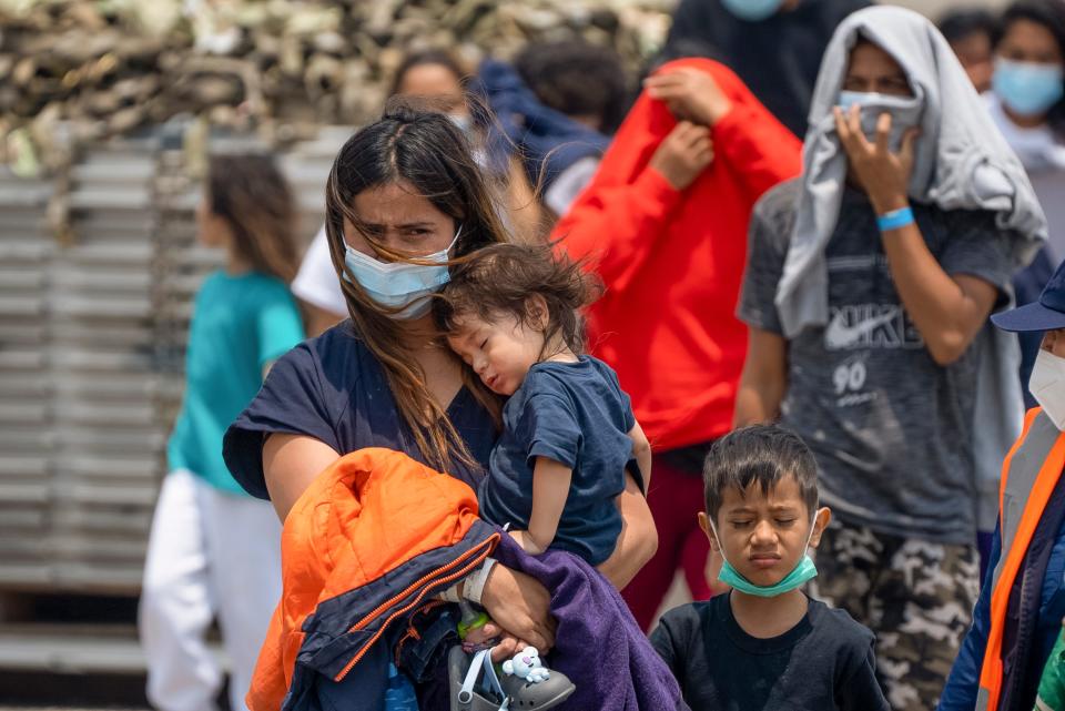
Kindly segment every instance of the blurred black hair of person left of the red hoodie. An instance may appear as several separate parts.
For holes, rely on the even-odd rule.
[[[592,115],[613,133],[628,109],[628,79],[617,52],[572,39],[526,45],[514,68],[545,105],[567,115]]]

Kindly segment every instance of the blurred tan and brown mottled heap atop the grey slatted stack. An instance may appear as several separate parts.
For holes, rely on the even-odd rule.
[[[0,2],[0,162],[54,167],[50,125],[80,140],[173,116],[283,141],[381,108],[413,49],[470,64],[582,37],[637,72],[674,0],[29,0]]]

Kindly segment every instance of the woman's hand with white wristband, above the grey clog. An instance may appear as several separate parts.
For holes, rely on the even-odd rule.
[[[500,628],[546,653],[555,646],[551,596],[535,578],[501,565],[491,567],[480,603]]]

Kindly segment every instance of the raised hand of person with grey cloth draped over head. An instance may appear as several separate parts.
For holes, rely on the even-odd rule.
[[[835,116],[835,130],[840,144],[846,152],[846,160],[855,177],[869,195],[878,215],[905,207],[910,190],[910,173],[913,172],[914,142],[919,129],[910,129],[902,136],[899,153],[892,153],[888,145],[891,134],[891,114],[882,113],[876,119],[876,140],[871,142],[862,132],[861,106],[851,106],[850,113],[843,109],[832,109]]]

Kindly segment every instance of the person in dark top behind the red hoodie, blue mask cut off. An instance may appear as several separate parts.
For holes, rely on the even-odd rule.
[[[843,18],[868,4],[868,0],[680,0],[666,53],[723,63],[792,133],[803,136],[829,38]],[[696,51],[700,44],[702,50]]]

